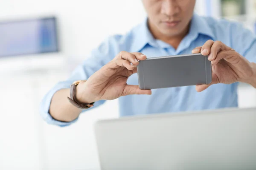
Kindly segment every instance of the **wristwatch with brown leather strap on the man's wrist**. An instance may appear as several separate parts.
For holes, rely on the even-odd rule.
[[[93,107],[93,104],[94,102],[92,103],[81,103],[77,100],[76,98],[76,87],[77,85],[79,85],[80,82],[84,82],[86,80],[78,80],[78,81],[75,81],[73,82],[71,85],[70,85],[70,97],[67,97],[67,99],[70,101],[70,103],[74,106],[76,106],[77,108],[80,108],[80,109],[88,109],[88,108],[91,108]]]

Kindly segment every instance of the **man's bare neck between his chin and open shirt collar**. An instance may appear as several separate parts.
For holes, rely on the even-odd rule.
[[[158,31],[158,29],[155,28],[155,26],[153,26],[150,22],[148,22],[148,28],[149,28],[151,34],[153,35],[153,37],[157,40],[162,40],[163,42],[168,43],[175,49],[178,48],[180,42],[183,40],[183,38],[186,36],[186,34],[188,34],[189,26],[187,26],[187,28],[179,35],[166,36],[165,34]]]

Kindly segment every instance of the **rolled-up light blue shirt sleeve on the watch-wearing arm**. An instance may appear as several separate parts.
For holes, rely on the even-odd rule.
[[[76,80],[88,79],[93,73],[98,71],[103,65],[111,61],[111,59],[113,59],[113,57],[116,56],[117,54],[116,51],[117,51],[117,43],[116,43],[116,37],[114,36],[109,37],[107,40],[102,42],[97,48],[95,48],[91,52],[90,57],[88,57],[81,65],[77,66],[67,80],[58,82],[43,97],[40,104],[40,108],[39,108],[41,117],[48,124],[58,125],[60,127],[68,126],[76,122],[78,118],[72,122],[61,122],[54,119],[49,114],[49,107],[52,100],[52,96],[61,89],[70,88],[70,85]],[[104,102],[105,102],[104,100],[95,102],[93,108],[96,108],[97,106],[102,105]],[[86,109],[83,112],[93,108]]]

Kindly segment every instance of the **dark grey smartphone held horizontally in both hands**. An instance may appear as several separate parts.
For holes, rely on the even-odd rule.
[[[152,57],[139,62],[138,81],[143,90],[212,82],[211,62],[200,53]]]

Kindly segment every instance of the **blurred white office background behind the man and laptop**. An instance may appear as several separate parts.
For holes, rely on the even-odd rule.
[[[195,12],[256,33],[256,0],[197,0]],[[140,0],[0,0],[0,170],[99,167],[93,123],[118,117],[118,101],[69,127],[47,125],[39,102],[102,40],[145,16]],[[256,90],[239,85],[239,107],[255,106]]]

